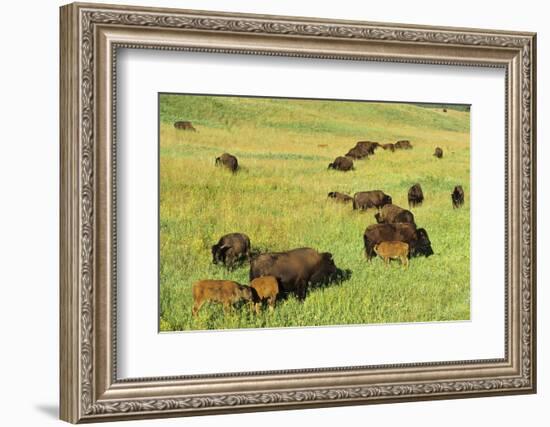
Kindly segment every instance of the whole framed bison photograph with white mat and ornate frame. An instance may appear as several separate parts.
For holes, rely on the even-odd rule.
[[[61,8],[78,422],[536,391],[536,36]]]

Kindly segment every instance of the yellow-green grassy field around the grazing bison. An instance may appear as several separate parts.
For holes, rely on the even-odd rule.
[[[197,132],[177,131],[191,120]],[[160,98],[160,329],[317,326],[464,320],[470,317],[469,112],[410,104],[254,99],[187,95]],[[358,140],[409,139],[413,150],[377,150],[355,171],[327,170]],[[321,145],[321,146],[320,146]],[[326,145],[326,147],[324,147]],[[444,158],[432,156],[434,148]],[[236,174],[214,166],[222,152],[239,159]],[[425,195],[412,209],[428,231],[435,255],[398,262],[367,262],[363,232],[374,211],[353,211],[327,199],[380,189],[407,207],[407,190]],[[461,184],[462,209],[450,193]],[[313,288],[273,313],[246,307],[224,315],[207,304],[191,316],[198,279],[248,283],[248,264],[234,271],[212,264],[210,247],[224,234],[243,232],[252,247],[282,251],[309,246],[331,252],[351,277]]]

